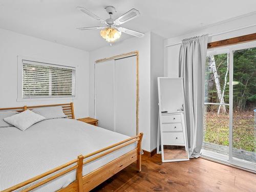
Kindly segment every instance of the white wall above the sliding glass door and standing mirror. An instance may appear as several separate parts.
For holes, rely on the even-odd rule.
[[[209,35],[218,34],[218,33],[230,31],[233,29],[239,29],[239,28],[255,25],[256,24],[255,21],[256,21],[256,14],[243,16],[243,17],[240,17],[237,19],[231,19],[227,22],[223,22],[218,25],[212,25],[210,27],[206,27],[199,31],[195,31],[195,32],[187,33],[187,34],[184,34],[181,36],[166,39],[164,41],[164,45],[176,44],[177,42],[180,42],[182,39],[188,38],[188,37],[199,36],[199,35],[207,34],[207,33]],[[241,30],[209,37],[208,42],[237,37],[237,36],[246,35],[246,34],[250,34],[250,33],[255,33],[255,31],[256,31],[256,26],[249,27],[246,29],[241,29]],[[164,76],[178,77],[178,75],[179,75],[179,50],[180,50],[180,45],[175,45],[172,47],[165,48],[165,50],[164,50]]]

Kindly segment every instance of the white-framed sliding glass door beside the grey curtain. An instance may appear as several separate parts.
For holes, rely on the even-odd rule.
[[[256,170],[256,42],[208,50],[202,154]]]

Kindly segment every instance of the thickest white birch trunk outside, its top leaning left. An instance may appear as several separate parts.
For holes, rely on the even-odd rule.
[[[217,95],[218,95],[219,101],[221,102],[222,93],[221,93],[220,80],[219,80],[219,76],[217,73],[216,63],[215,63],[215,59],[214,59],[213,55],[208,56],[208,62],[209,62],[210,69],[212,70],[212,73],[214,74],[214,81],[216,84]],[[225,105],[220,105],[220,106],[222,108],[223,113],[226,113],[226,106]]]

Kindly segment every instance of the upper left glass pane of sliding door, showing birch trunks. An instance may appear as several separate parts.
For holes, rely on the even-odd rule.
[[[229,100],[229,55],[208,55],[205,66],[205,102],[228,103]],[[221,112],[224,108],[221,107]]]

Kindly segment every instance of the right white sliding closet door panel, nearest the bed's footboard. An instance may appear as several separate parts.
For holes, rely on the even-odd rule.
[[[136,56],[115,60],[115,131],[136,135]]]

